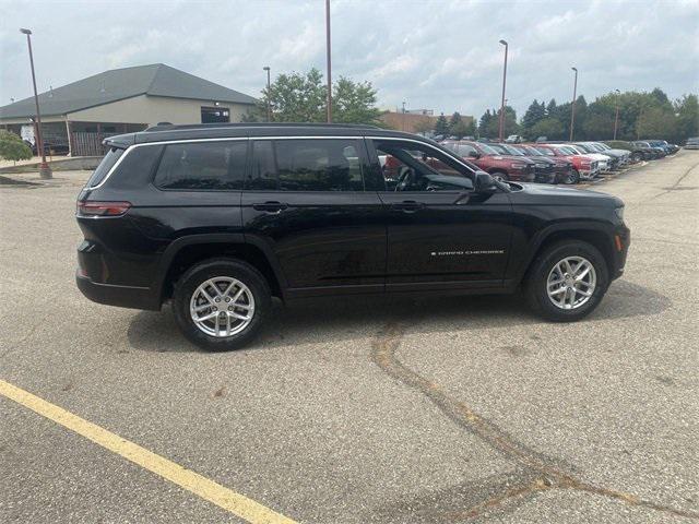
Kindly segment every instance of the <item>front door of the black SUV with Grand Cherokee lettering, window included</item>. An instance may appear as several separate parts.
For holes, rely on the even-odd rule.
[[[507,193],[475,193],[470,169],[422,142],[377,139],[369,151],[386,179],[387,290],[501,287]]]

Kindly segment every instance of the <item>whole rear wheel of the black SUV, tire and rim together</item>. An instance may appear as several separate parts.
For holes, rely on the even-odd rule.
[[[230,287],[226,289],[227,286]],[[210,259],[193,265],[175,285],[173,298],[175,321],[182,334],[211,352],[237,349],[252,341],[272,303],[264,276],[250,264],[236,259]],[[193,307],[202,311],[193,312]],[[218,313],[205,320],[204,317],[213,314],[214,309]],[[197,323],[194,314],[202,321]],[[249,320],[241,320],[245,317]]]

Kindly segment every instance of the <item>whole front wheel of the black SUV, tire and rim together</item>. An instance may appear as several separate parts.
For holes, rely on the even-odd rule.
[[[566,284],[573,284],[572,279],[562,279],[559,274],[557,266],[559,263],[562,264],[564,260],[569,260],[573,273],[578,267],[581,273],[587,269],[585,265],[576,265],[578,261],[584,261],[591,267],[582,277],[584,282],[574,283],[578,289],[574,294],[570,290],[557,293],[568,287]],[[565,267],[565,265],[561,266]],[[560,284],[558,285],[556,281]],[[548,282],[554,282],[553,298],[548,296]],[[524,282],[524,296],[530,308],[541,317],[554,322],[573,322],[587,317],[600,305],[608,286],[609,273],[602,253],[588,242],[564,240],[544,249],[534,259]],[[590,296],[580,293],[590,291],[591,288]],[[556,305],[554,300],[558,302],[562,300],[565,306]],[[568,306],[570,307],[567,309]]]

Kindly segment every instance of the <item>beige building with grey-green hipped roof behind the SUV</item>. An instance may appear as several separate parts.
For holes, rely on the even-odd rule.
[[[105,136],[157,122],[239,122],[256,99],[163,63],[114,69],[39,95],[45,142],[102,154]],[[33,138],[34,97],[0,107],[0,128]]]

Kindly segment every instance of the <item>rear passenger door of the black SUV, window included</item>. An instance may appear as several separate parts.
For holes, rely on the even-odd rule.
[[[289,298],[383,290],[386,225],[366,169],[358,138],[252,141],[245,235],[272,253]]]

